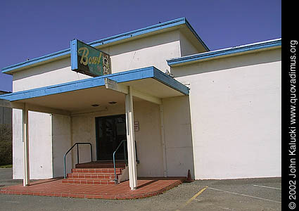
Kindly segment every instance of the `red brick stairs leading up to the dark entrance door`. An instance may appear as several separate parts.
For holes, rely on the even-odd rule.
[[[63,179],[64,184],[90,184],[90,185],[110,185],[115,184],[115,175],[113,164],[89,162],[75,166],[72,173],[68,174],[67,179]],[[124,163],[116,165],[117,179],[125,169]]]

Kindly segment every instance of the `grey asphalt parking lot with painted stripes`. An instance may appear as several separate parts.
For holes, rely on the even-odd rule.
[[[0,169],[0,188],[21,182]],[[136,200],[0,194],[0,210],[281,210],[281,178],[199,180]]]

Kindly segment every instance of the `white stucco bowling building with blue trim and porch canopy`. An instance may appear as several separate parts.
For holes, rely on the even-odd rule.
[[[193,179],[281,177],[281,39],[210,51],[179,18],[89,44],[110,55],[111,75],[72,71],[70,49],[2,70],[13,75],[13,93],[0,96],[14,108],[13,179],[63,176],[77,142],[111,160],[123,139],[131,188],[136,175],[188,170]],[[73,151],[67,172],[76,163]]]

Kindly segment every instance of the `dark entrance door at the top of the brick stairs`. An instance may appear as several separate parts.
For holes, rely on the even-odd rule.
[[[127,140],[126,116],[96,117],[96,158],[113,160],[113,152],[122,140]],[[127,151],[127,142],[125,142]],[[115,160],[124,160],[124,146],[115,153]]]

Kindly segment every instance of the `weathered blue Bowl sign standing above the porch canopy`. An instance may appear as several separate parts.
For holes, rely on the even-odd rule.
[[[110,56],[78,39],[70,41],[71,69],[93,77],[111,74]]]

